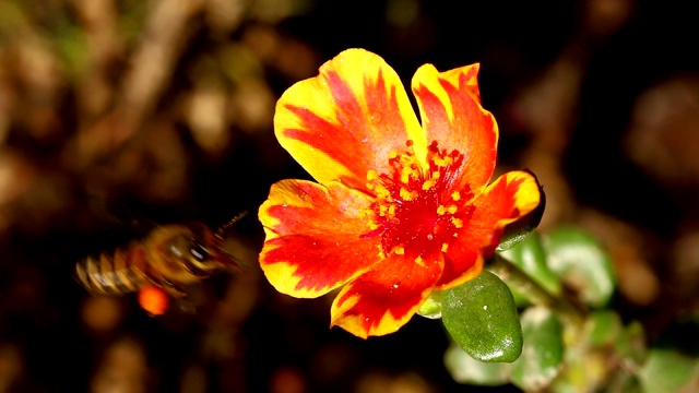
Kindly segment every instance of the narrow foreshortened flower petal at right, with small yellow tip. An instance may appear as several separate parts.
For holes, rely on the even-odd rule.
[[[507,172],[489,184],[474,200],[471,221],[449,246],[438,289],[454,287],[481,274],[483,260],[495,252],[505,226],[536,209],[540,199],[538,182],[526,171]]]

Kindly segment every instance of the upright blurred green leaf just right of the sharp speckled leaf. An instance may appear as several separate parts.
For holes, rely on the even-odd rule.
[[[561,324],[545,307],[530,307],[521,317],[524,346],[512,364],[512,383],[526,392],[541,391],[558,376],[564,359]]]

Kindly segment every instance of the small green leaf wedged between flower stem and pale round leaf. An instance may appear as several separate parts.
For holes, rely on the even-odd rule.
[[[532,233],[525,240],[509,250],[500,252],[500,254],[529,274],[549,294],[554,296],[560,295],[561,283],[546,264],[546,252],[541,241],[541,235]],[[514,290],[512,291],[514,293]]]

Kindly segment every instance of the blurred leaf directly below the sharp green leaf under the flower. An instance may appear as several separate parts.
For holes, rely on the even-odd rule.
[[[476,360],[452,342],[445,353],[445,367],[459,383],[497,386],[509,382],[511,365]]]

